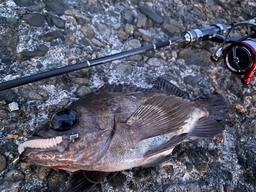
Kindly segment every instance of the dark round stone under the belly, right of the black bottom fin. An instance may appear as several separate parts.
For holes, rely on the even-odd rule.
[[[126,182],[126,176],[122,172],[112,172],[106,179],[114,189],[122,187]]]

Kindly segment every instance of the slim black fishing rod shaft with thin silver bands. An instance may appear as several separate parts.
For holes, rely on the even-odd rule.
[[[166,46],[174,44],[175,42],[180,42],[180,41],[185,41],[185,37],[179,37],[179,38],[168,40],[168,41],[158,42],[157,44],[148,45],[148,46],[145,46],[145,47],[125,51],[125,52],[122,52],[122,53],[117,53],[117,54],[114,54],[114,55],[100,57],[100,58],[92,59],[92,60],[86,61],[86,62],[76,63],[72,66],[61,67],[61,68],[54,69],[54,70],[51,70],[51,71],[46,71],[46,72],[42,72],[42,73],[38,73],[38,74],[34,74],[34,75],[29,75],[29,76],[26,76],[26,77],[14,79],[14,80],[2,82],[2,83],[0,83],[0,91],[15,88],[15,87],[18,87],[18,86],[23,86],[24,84],[28,84],[28,83],[31,83],[31,82],[39,81],[39,80],[42,80],[42,79],[47,79],[47,78],[54,77],[54,76],[57,76],[57,75],[62,75],[62,74],[65,74],[65,73],[77,71],[77,70],[80,70],[80,69],[97,66],[97,65],[100,65],[102,63],[111,62],[111,61],[114,61],[114,60],[117,60],[117,59],[122,59],[122,58],[125,58],[125,57],[129,57],[129,56],[132,56],[132,55],[137,55],[137,54],[140,54],[140,53],[144,53],[146,51],[159,49],[159,48],[166,47]]]

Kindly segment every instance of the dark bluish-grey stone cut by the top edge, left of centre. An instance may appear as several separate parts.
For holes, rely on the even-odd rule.
[[[64,12],[70,7],[65,4],[62,0],[46,0],[44,2],[46,4],[46,10],[52,13],[56,13],[58,16],[64,14]]]

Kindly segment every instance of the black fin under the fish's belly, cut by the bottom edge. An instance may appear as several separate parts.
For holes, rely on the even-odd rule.
[[[67,182],[65,192],[87,192],[90,191],[97,183],[108,176],[110,172],[88,172],[78,170],[71,173]]]

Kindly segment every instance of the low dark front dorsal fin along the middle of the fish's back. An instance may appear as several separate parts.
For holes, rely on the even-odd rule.
[[[132,83],[130,84],[106,83],[96,93],[109,93],[109,92],[133,93],[137,91],[146,91],[146,89],[134,86]]]

